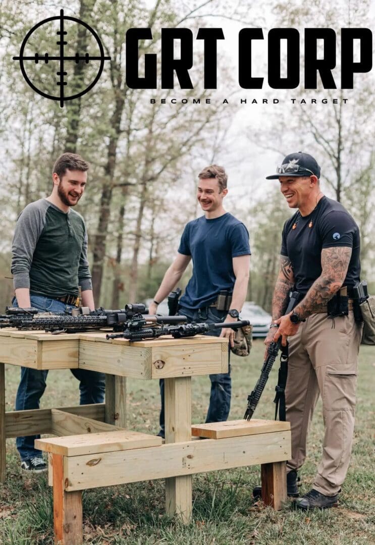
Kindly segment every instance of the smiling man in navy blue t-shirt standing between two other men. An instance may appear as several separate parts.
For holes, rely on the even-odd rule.
[[[192,259],[193,273],[180,299],[179,314],[193,322],[236,322],[244,304],[249,281],[249,233],[243,223],[223,208],[227,195],[227,174],[217,165],[204,168],[198,174],[197,199],[204,216],[190,221],[181,237],[178,255],[166,271],[149,307],[154,314],[160,302],[176,286]],[[222,290],[232,294],[225,310],[217,310],[217,298]],[[214,335],[210,332],[210,335]],[[217,331],[219,335],[219,331]],[[220,337],[228,338],[233,346],[234,331],[222,329]],[[231,406],[231,376],[211,374],[211,394],[206,422],[221,422],[228,418]],[[164,437],[164,380],[160,380],[162,408],[159,435]]]

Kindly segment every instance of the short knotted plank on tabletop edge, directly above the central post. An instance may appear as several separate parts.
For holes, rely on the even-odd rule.
[[[214,337],[217,339],[217,337]],[[179,339],[182,341],[182,339]],[[186,339],[184,339],[186,341]],[[221,373],[223,352],[221,343],[166,344],[152,348],[152,378],[189,377]],[[228,357],[228,356],[227,356]],[[160,365],[160,362],[163,362]],[[228,364],[228,360],[226,360]]]

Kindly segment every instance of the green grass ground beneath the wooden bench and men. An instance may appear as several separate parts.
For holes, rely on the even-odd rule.
[[[258,378],[262,341],[250,358],[232,359],[233,398],[229,419],[242,418],[247,394]],[[273,418],[276,365],[256,412]],[[7,366],[7,410],[13,410],[19,368]],[[193,518],[183,526],[164,514],[164,482],[148,481],[83,493],[84,542],[96,544],[179,545],[298,544],[362,545],[375,543],[375,477],[373,471],[375,348],[362,346],[352,462],[342,487],[340,506],[327,511],[298,512],[288,502],[279,512],[251,496],[259,467],[219,471],[193,477]],[[202,422],[209,397],[208,377],[193,378],[193,422]],[[78,387],[69,371],[51,371],[43,407],[76,404]],[[320,402],[319,402],[320,403]],[[323,422],[316,409],[309,455],[301,470],[301,493],[311,488],[320,458]],[[128,381],[129,428],[157,433],[159,392],[156,381]],[[8,479],[0,485],[0,543],[53,543],[51,489],[46,475],[21,474],[15,441],[7,441]]]

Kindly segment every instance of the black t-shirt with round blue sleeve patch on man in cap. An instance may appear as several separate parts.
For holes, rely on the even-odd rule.
[[[298,292],[306,293],[322,274],[320,254],[322,248],[331,246],[353,249],[343,286],[354,287],[361,271],[359,228],[342,204],[323,197],[310,215],[303,217],[297,212],[285,222],[281,255],[292,262]]]

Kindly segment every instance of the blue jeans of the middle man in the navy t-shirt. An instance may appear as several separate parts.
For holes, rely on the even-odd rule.
[[[227,311],[216,310],[214,307],[200,308],[199,310],[190,310],[189,308],[180,306],[178,313],[182,316],[187,316],[189,322],[208,322],[218,323],[223,322],[227,316]],[[220,337],[221,330],[216,329],[209,331],[204,335]],[[231,351],[228,352],[230,359]],[[229,364],[228,373],[210,374],[211,393],[210,404],[208,407],[206,422],[223,422],[227,420],[229,410],[231,408],[232,395],[232,380],[231,366]],[[165,417],[164,417],[164,379],[159,380],[160,396],[161,396],[161,411],[160,411],[160,432],[161,437],[165,436]]]

